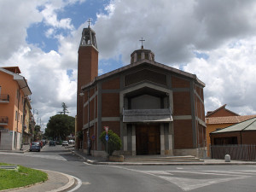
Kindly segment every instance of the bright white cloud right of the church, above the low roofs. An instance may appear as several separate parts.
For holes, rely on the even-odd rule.
[[[228,104],[236,113],[256,113],[255,44],[256,37],[230,41],[209,52],[207,60],[194,58],[183,67],[207,84],[207,110]]]

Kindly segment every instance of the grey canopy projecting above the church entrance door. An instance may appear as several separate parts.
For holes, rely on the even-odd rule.
[[[123,110],[123,122],[171,122],[171,108],[126,109]]]

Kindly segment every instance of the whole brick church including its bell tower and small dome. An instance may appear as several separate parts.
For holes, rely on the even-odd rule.
[[[99,137],[107,126],[121,138],[118,154],[206,154],[205,84],[195,74],[154,61],[142,45],[129,65],[98,76],[98,54],[89,25],[79,45],[77,147],[105,155]]]

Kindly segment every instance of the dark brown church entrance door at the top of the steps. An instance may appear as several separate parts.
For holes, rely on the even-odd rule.
[[[137,125],[136,151],[140,154],[160,154],[160,125]]]

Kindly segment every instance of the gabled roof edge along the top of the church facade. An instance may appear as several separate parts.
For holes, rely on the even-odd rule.
[[[169,66],[166,66],[164,64],[161,64],[159,62],[156,62],[156,61],[150,61],[148,59],[143,59],[143,60],[140,60],[140,61],[137,61],[137,62],[134,62],[134,63],[131,63],[130,65],[127,65],[125,67],[120,67],[118,69],[115,69],[109,73],[105,73],[105,74],[102,74],[101,76],[97,76],[92,82],[90,82],[89,84],[84,84],[82,86],[82,90],[86,90],[88,87],[90,87],[91,85],[95,84],[97,81],[99,80],[102,80],[102,79],[106,79],[110,76],[113,76],[117,73],[122,73],[132,67],[137,67],[137,66],[141,66],[143,64],[148,64],[148,65],[151,65],[153,67],[159,67],[159,68],[162,68],[162,69],[165,69],[169,72],[172,72],[172,73],[177,73],[177,74],[180,74],[180,75],[183,75],[189,79],[194,79],[196,83],[198,84],[201,84],[201,86],[205,87],[206,84],[204,84],[200,79],[198,79],[196,77],[195,74],[192,74],[192,73],[187,73],[187,72],[183,72],[177,68],[174,68],[174,67],[169,67]]]

